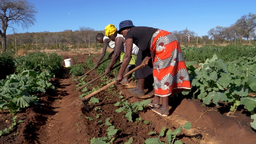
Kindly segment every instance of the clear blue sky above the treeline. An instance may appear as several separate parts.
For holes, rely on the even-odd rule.
[[[38,11],[28,29],[15,26],[16,33],[62,32],[90,27],[116,28],[123,20],[135,26],[167,30],[188,30],[208,35],[216,26],[228,27],[244,14],[256,14],[256,0],[28,0]],[[11,28],[7,34],[12,34]]]

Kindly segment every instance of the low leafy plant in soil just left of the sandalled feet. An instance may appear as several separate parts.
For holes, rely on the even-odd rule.
[[[130,121],[133,122],[132,116],[134,116],[138,111],[143,110],[143,108],[148,105],[150,102],[150,99],[144,100],[142,102],[135,102],[133,104],[130,104],[127,100],[124,101],[124,99],[121,100],[121,102],[116,102],[114,106],[122,106],[116,110],[116,112],[124,112],[126,113],[126,118]]]

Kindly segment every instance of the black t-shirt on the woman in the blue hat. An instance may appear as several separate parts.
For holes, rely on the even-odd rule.
[[[144,51],[150,48],[151,38],[156,30],[146,26],[134,26],[127,32],[125,39],[132,38],[133,43]]]

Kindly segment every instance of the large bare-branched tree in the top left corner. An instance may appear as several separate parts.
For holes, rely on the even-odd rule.
[[[12,25],[29,28],[36,22],[34,4],[27,0],[0,0],[0,35],[2,38],[2,48],[6,50],[6,30],[12,28],[15,33],[15,28]]]

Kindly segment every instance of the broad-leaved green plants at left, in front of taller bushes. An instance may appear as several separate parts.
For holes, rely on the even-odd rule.
[[[25,70],[21,74],[12,74],[5,80],[0,80],[0,110],[4,108],[15,113],[19,108],[25,108],[30,103],[39,104],[38,97],[33,94],[46,92],[48,88],[56,90],[48,82],[53,77],[49,71],[39,74],[34,70]]]

